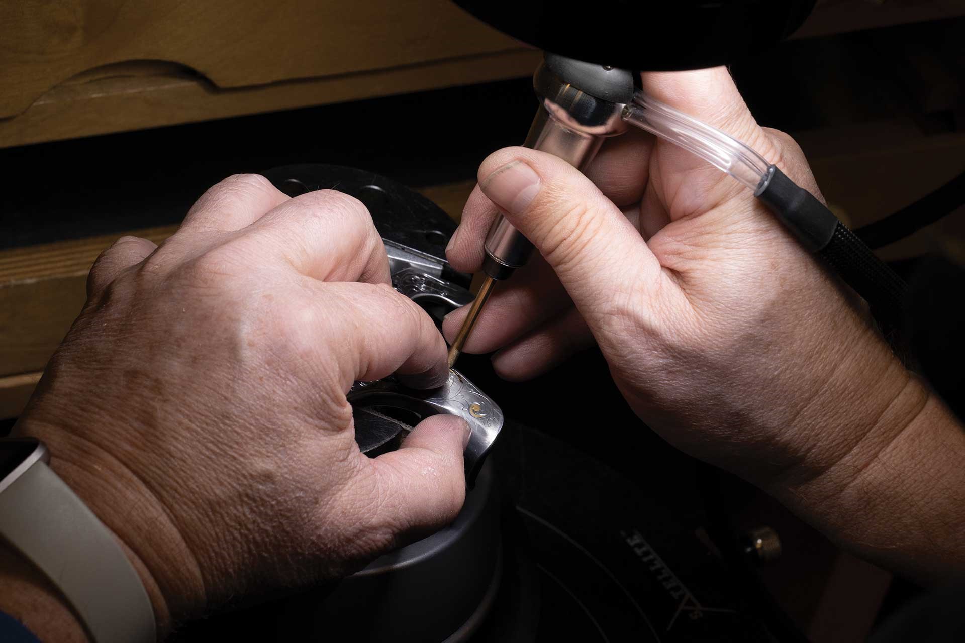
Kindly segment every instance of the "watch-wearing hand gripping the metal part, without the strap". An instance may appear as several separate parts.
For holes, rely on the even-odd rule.
[[[159,248],[124,237],[14,434],[124,544],[163,633],[245,594],[345,575],[455,518],[468,427],[435,416],[363,455],[345,393],[448,375],[389,284],[368,211],[261,176],[211,188]]]

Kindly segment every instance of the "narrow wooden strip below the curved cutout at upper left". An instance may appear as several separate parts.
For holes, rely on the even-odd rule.
[[[0,119],[0,147],[506,80],[532,74],[539,60],[537,51],[514,48],[234,90],[177,67],[116,66],[55,87],[22,114]]]

